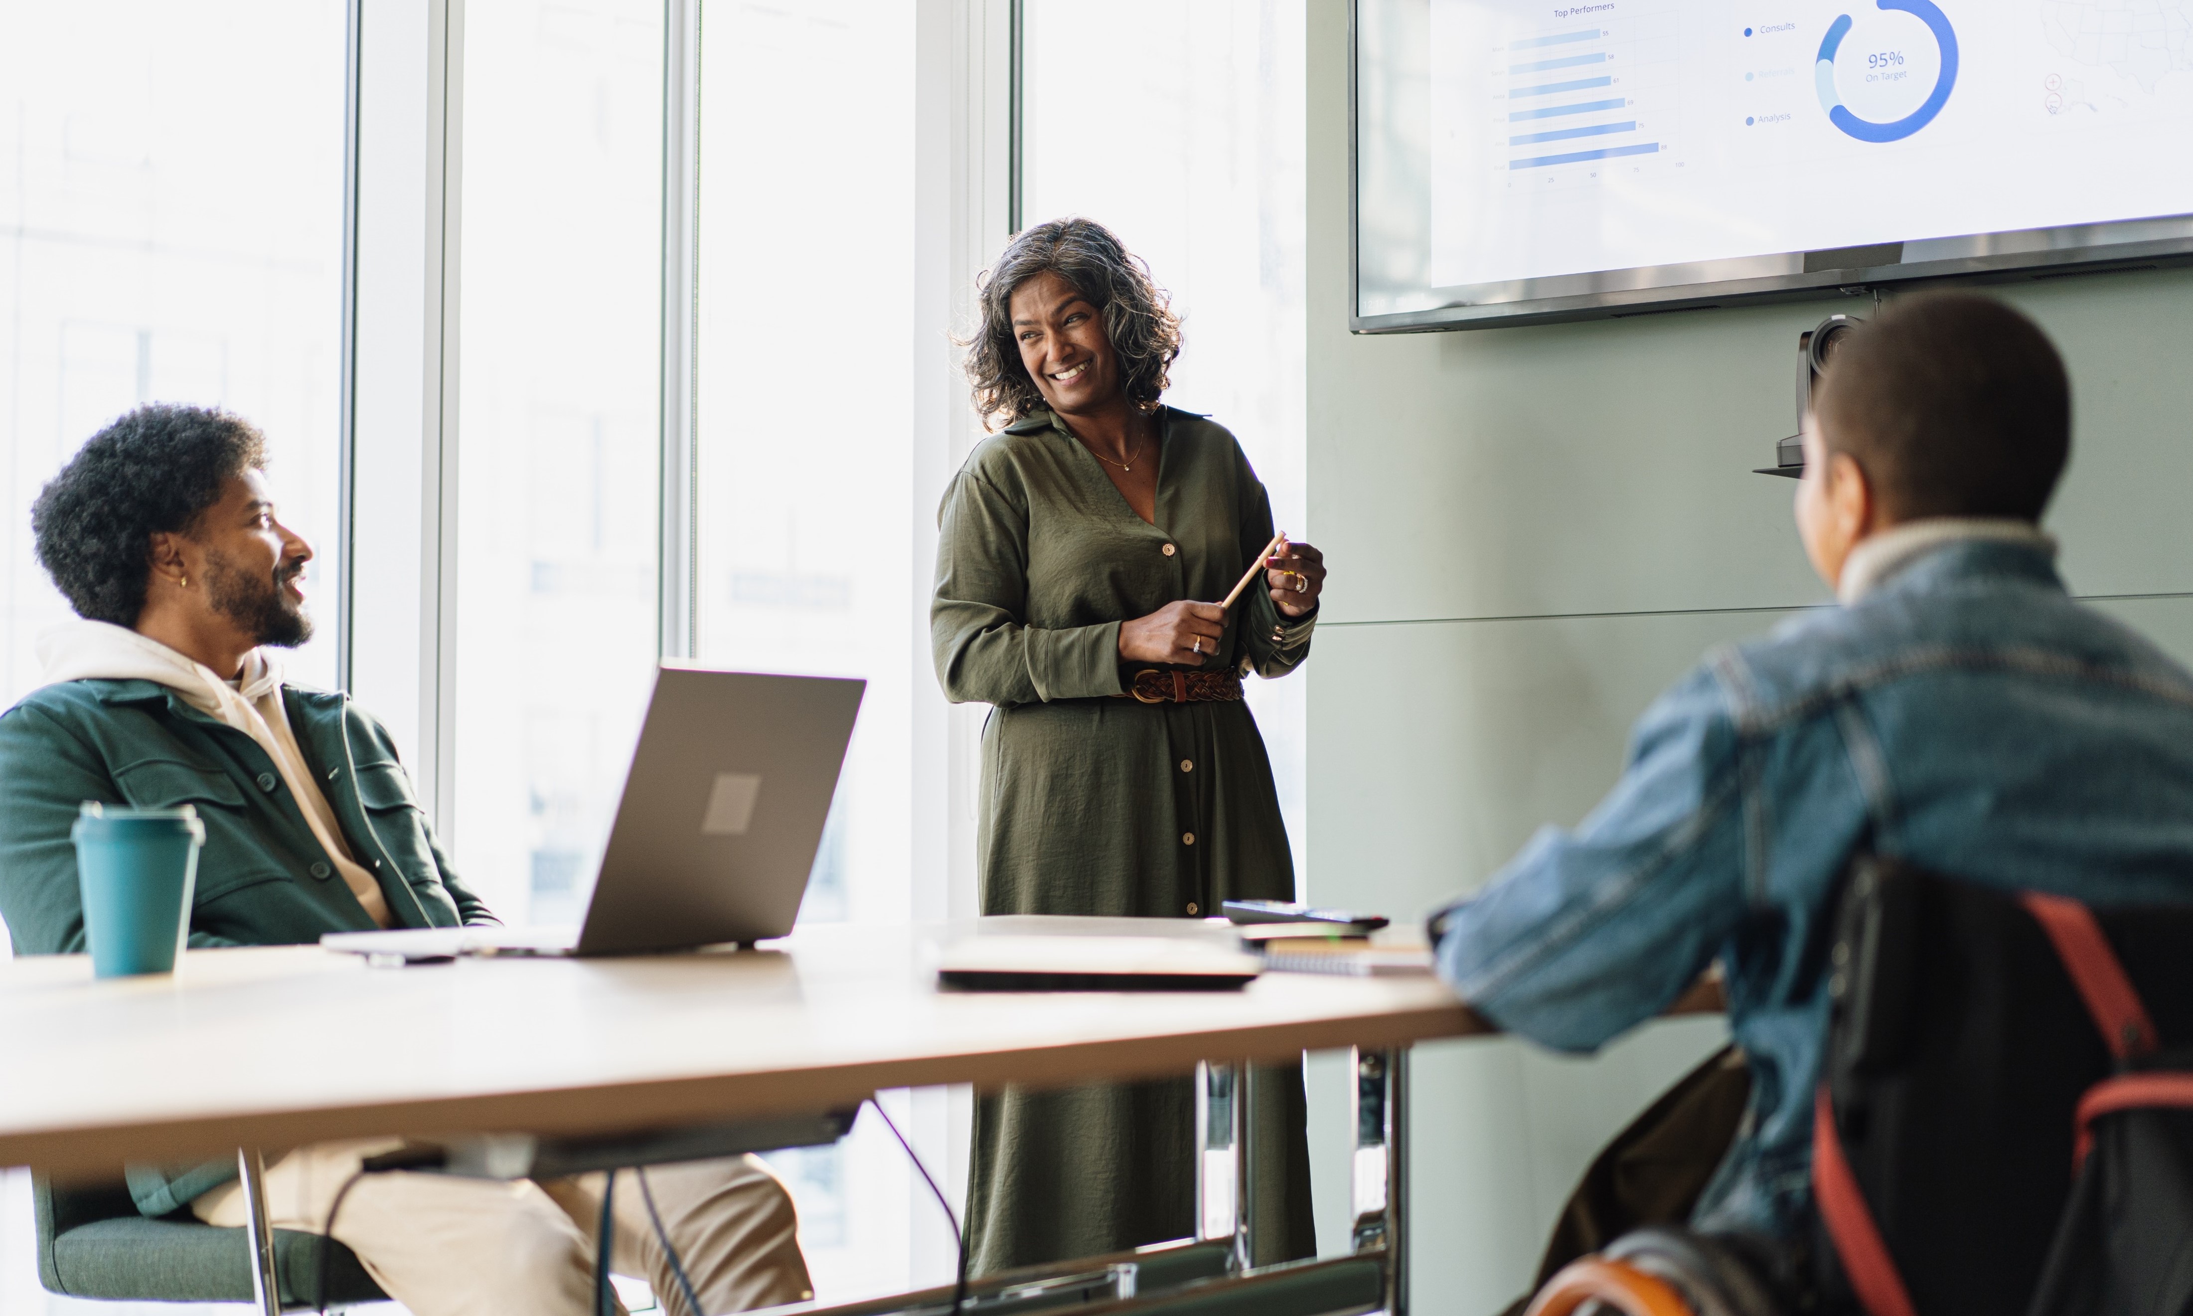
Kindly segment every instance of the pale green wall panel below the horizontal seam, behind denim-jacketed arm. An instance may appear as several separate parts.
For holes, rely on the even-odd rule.
[[[1421,919],[1478,888],[1542,822],[1621,774],[1629,724],[1700,654],[1789,612],[1325,625],[1309,700],[1309,899]],[[1419,1312],[1522,1292],[1592,1154],[1724,1037],[1656,1024],[1592,1059],[1522,1042],[1419,1051],[1412,1075]],[[1347,1237],[1344,1079],[1311,1075],[1322,1250]]]

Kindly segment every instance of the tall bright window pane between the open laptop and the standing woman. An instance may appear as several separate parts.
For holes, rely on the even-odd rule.
[[[904,921],[912,700],[939,697],[928,564],[908,564],[934,518],[912,487],[914,7],[706,0],[702,37],[697,651],[866,678],[800,921]],[[770,1160],[818,1296],[950,1277],[943,1219],[873,1116]]]

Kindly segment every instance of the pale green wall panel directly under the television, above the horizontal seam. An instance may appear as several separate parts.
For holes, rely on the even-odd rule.
[[[1344,167],[1342,107],[1311,112],[1327,167]],[[1789,531],[1794,485],[1750,467],[1794,432],[1798,331],[1868,303],[1349,336],[1344,173],[1311,197],[1327,213],[1311,224],[1311,268],[1329,300],[1309,322],[1309,485],[1336,570],[1331,619],[1825,597]],[[1996,292],[2050,331],[2072,371],[2075,456],[2050,515],[2066,572],[2094,594],[2193,588],[2175,513],[2193,487],[2193,379],[2178,364],[2193,272]]]

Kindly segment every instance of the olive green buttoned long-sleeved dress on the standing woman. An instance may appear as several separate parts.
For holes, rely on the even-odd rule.
[[[930,643],[982,728],[976,862],[985,915],[1208,917],[1294,899],[1294,862],[1243,702],[1140,704],[1118,623],[1219,601],[1272,540],[1272,507],[1222,426],[1160,412],[1156,524],[1046,410],[982,441],[939,513]],[[1261,581],[1226,619],[1211,671],[1300,667],[1316,619]],[[1309,1257],[1298,1066],[1259,1068],[1257,1263]],[[1191,1079],[1007,1090],[976,1101],[971,1266],[987,1274],[1195,1233]]]

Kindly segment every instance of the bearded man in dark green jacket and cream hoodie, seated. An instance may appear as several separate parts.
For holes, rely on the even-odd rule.
[[[197,809],[197,948],[493,921],[434,844],[388,733],[340,693],[283,684],[268,649],[311,636],[311,546],[276,520],[263,467],[237,417],[147,406],[39,494],[37,559],[83,621],[44,636],[50,684],[0,715],[0,917],[18,954],[83,950],[68,838],[83,801]],[[289,1152],[268,1169],[274,1224],[320,1230],[360,1158],[395,1145]],[[792,1202],[759,1160],[658,1167],[647,1187],[708,1312],[809,1296]],[[625,1176],[612,1195],[614,1268],[684,1312],[632,1189]],[[129,1167],[129,1191],[147,1215],[243,1224],[232,1160]],[[601,1193],[599,1173],[382,1173],[344,1198],[336,1237],[421,1316],[577,1316],[594,1303]]]

